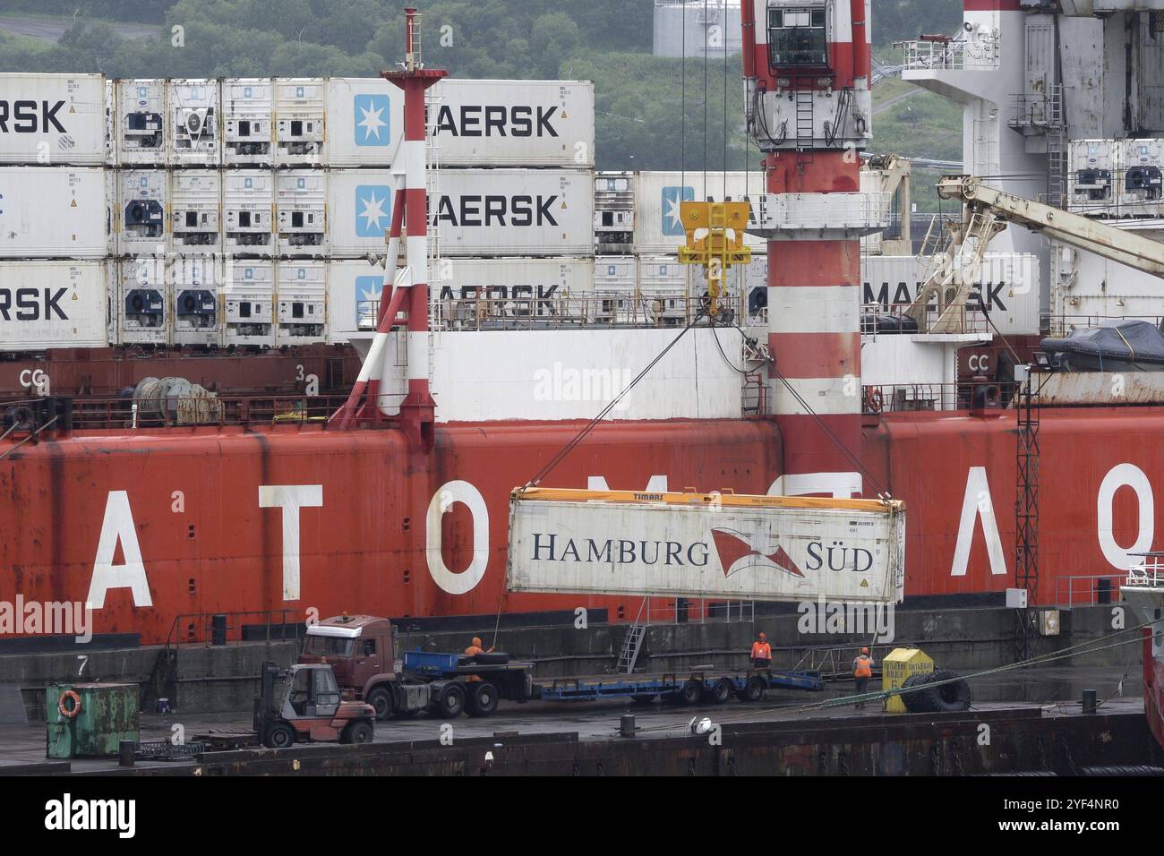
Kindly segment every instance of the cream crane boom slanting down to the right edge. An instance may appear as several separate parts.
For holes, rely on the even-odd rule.
[[[947,176],[938,196],[960,200],[971,211],[993,214],[1032,232],[1042,232],[1077,249],[1103,256],[1129,268],[1164,277],[1164,243],[1108,226],[1070,211],[984,186],[972,176]]]

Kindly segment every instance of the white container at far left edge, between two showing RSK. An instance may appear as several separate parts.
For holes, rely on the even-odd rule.
[[[100,259],[108,234],[100,167],[0,167],[0,257]]]

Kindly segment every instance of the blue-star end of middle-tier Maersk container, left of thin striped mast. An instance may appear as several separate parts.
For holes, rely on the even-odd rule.
[[[327,171],[327,231],[333,257],[363,257],[385,250],[393,188],[389,169]]]

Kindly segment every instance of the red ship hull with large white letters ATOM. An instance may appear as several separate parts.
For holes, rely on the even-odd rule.
[[[165,642],[176,624],[191,632],[197,622],[179,615],[242,610],[492,616],[587,607],[632,618],[638,599],[504,590],[509,493],[579,427],[442,426],[431,455],[395,430],[290,425],[27,444],[0,461],[0,601],[92,600],[94,632],[136,634],[143,644]],[[1043,411],[1037,602],[1059,599],[1067,578],[1122,574],[1105,543],[1127,551],[1151,540],[1162,437],[1161,408]],[[887,415],[866,426],[864,457],[908,505],[907,597],[1015,585],[1013,413]],[[670,489],[762,494],[781,460],[767,420],[612,423],[546,483],[585,487],[601,476],[643,489],[666,476]],[[1123,484],[1136,472],[1147,486]],[[878,489],[866,479],[866,495]]]

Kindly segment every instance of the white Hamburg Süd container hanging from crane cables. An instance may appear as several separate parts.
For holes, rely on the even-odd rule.
[[[718,501],[717,501],[718,498]],[[511,592],[896,603],[900,501],[526,489],[510,500]]]

